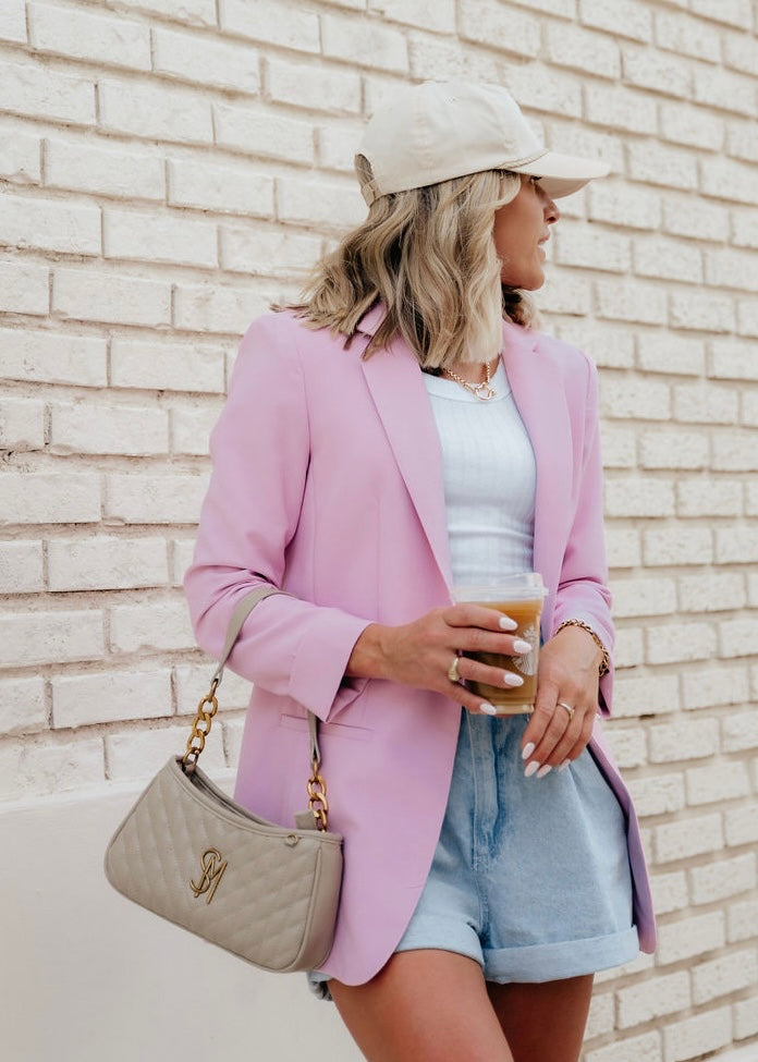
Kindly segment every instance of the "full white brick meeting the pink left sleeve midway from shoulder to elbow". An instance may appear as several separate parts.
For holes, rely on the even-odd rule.
[[[106,484],[109,523],[196,524],[208,477],[112,474]]]

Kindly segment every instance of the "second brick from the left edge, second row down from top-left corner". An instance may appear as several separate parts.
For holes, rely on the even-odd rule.
[[[190,90],[101,78],[98,99],[100,125],[109,132],[188,144],[213,139],[210,101]]]

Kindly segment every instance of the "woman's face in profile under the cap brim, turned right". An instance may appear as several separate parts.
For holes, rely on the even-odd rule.
[[[541,245],[550,239],[548,225],[561,215],[539,178],[522,173],[521,182],[515,199],[494,211],[494,247],[502,263],[502,282],[536,291],[545,283],[547,256]]]

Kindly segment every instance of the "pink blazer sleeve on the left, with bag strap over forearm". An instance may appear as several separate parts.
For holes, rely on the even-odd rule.
[[[216,659],[236,602],[261,584],[286,588],[286,549],[297,529],[309,459],[295,332],[283,315],[253,322],[210,437],[212,473],[184,590],[197,643]],[[245,621],[229,667],[327,721],[365,685],[344,672],[369,622],[274,595]]]

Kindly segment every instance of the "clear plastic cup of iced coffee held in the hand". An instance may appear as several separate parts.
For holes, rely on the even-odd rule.
[[[524,680],[523,685],[508,688],[466,680],[466,684],[477,696],[494,705],[498,715],[515,716],[534,711],[539,662],[539,621],[547,593],[539,572],[521,572],[487,585],[453,587],[453,597],[456,601],[484,605],[488,609],[498,609],[499,612],[510,615],[518,627],[508,633],[528,642],[531,646],[529,652],[518,657],[509,657],[500,652],[464,654],[473,660],[480,660],[481,663],[499,668],[501,671],[511,671]]]

